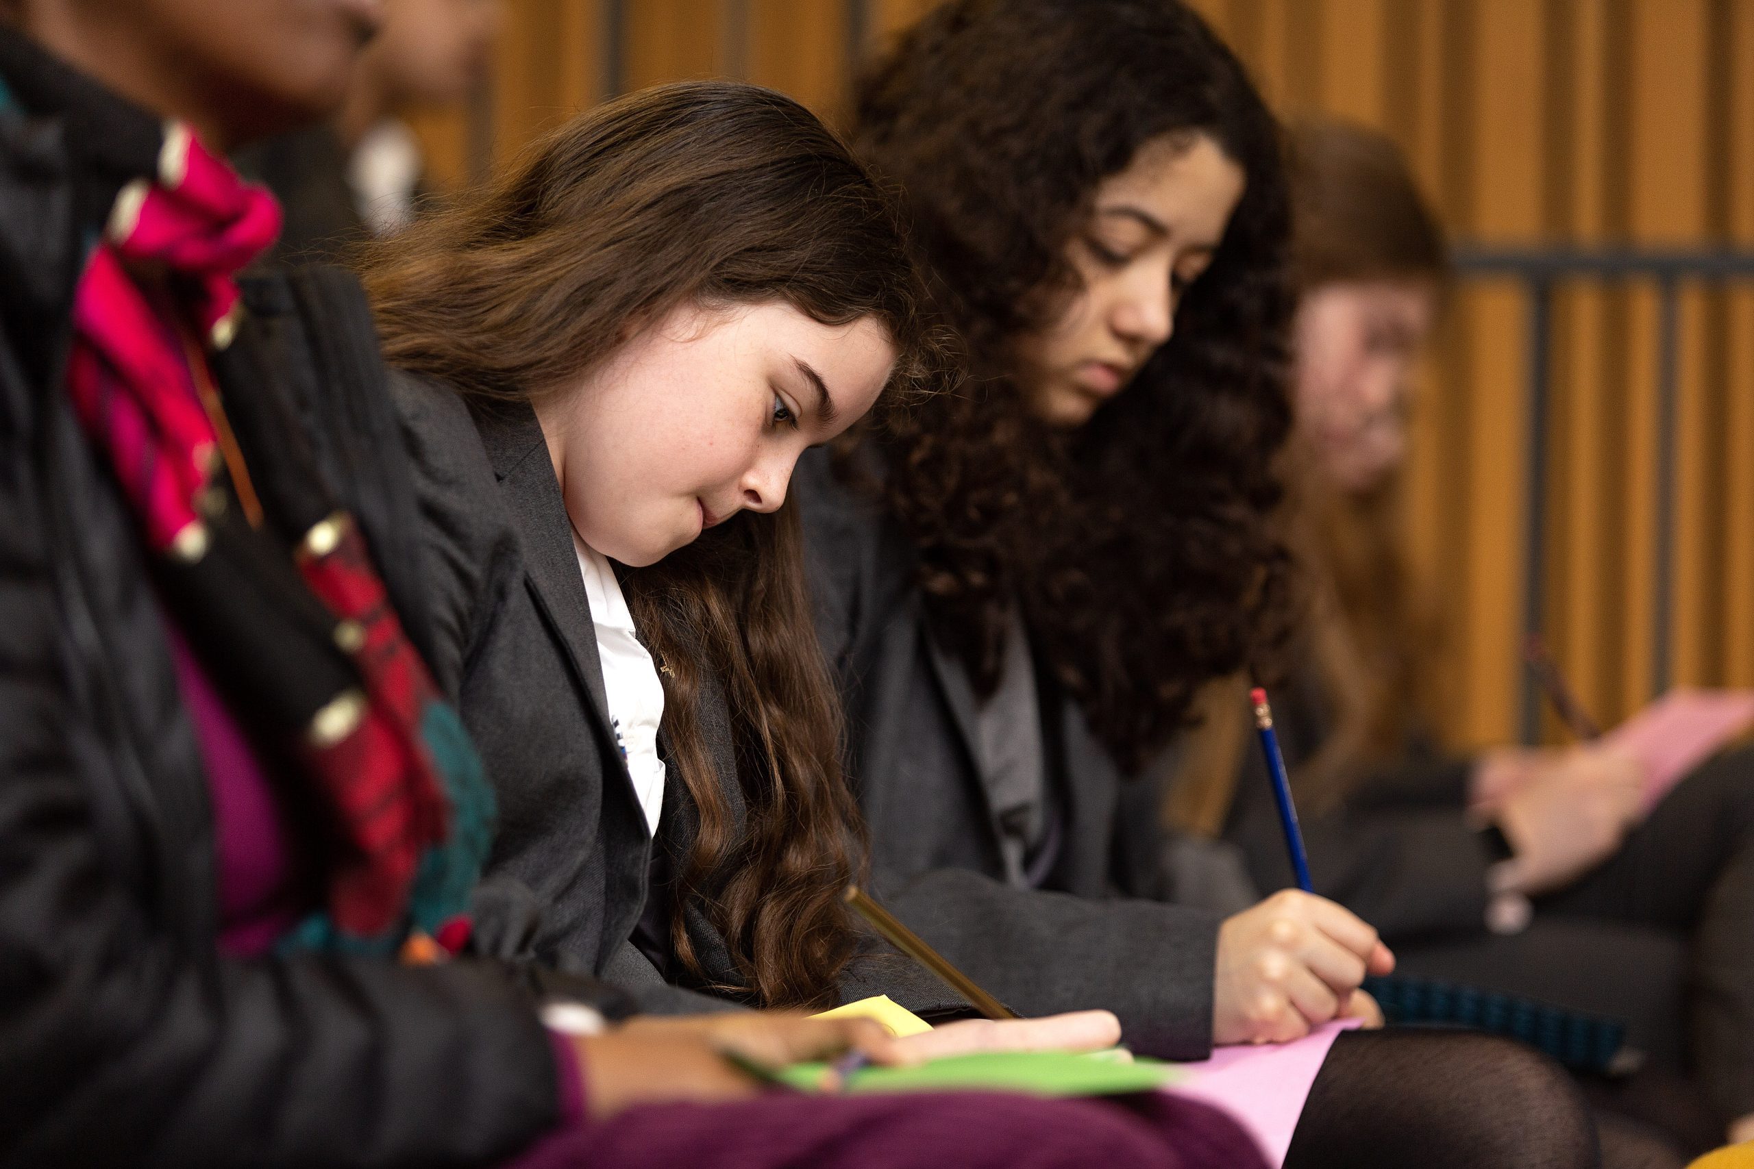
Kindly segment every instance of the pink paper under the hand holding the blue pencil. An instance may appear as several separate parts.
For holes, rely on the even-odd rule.
[[[1356,1018],[1340,1018],[1294,1043],[1216,1048],[1209,1060],[1177,1064],[1187,1078],[1168,1090],[1217,1104],[1254,1136],[1268,1164],[1282,1165],[1328,1048],[1342,1031],[1358,1025]]]

